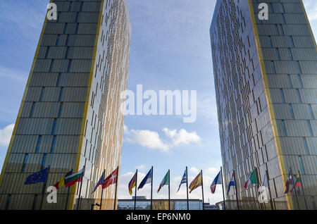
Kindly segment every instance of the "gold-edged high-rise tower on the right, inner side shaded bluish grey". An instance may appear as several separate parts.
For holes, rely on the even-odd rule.
[[[225,186],[235,170],[240,209],[271,209],[244,189],[268,170],[273,209],[316,209],[317,48],[302,0],[218,0],[210,35]],[[290,168],[306,197],[284,194]]]

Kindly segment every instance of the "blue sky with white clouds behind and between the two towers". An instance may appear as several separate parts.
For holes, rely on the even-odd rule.
[[[27,76],[42,29],[48,0],[0,1],[0,168],[6,156]],[[128,89],[197,90],[197,120],[182,116],[125,116],[119,198],[130,198],[128,182],[154,166],[154,198],[166,198],[167,187],[156,190],[168,169],[171,197],[185,166],[189,181],[204,172],[205,201],[222,199],[221,188],[209,186],[221,166],[216,99],[213,85],[209,27],[216,0],[128,0],[132,24]],[[315,36],[317,1],[304,0]],[[13,10],[14,9],[14,10]],[[140,180],[140,179],[139,179]],[[138,195],[149,197],[150,186]],[[201,198],[201,189],[189,196]]]

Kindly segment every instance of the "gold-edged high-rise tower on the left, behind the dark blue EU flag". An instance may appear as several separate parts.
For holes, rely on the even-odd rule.
[[[27,175],[50,166],[46,186],[85,166],[80,184],[58,189],[42,209],[90,209],[101,173],[120,165],[130,54],[130,18],[124,0],[51,1],[57,20],[45,20],[0,178],[0,209],[39,209],[43,183]],[[102,209],[113,209],[115,186]]]

